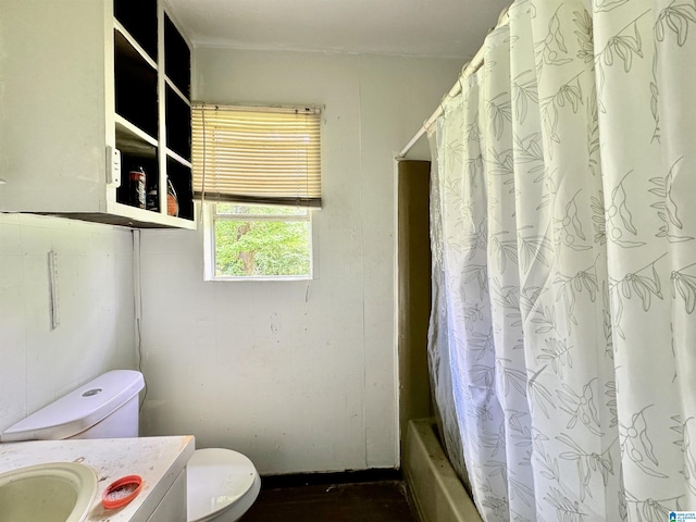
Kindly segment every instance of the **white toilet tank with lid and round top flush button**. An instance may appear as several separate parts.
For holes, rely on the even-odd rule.
[[[137,437],[144,387],[140,372],[107,372],[8,427],[0,440]]]

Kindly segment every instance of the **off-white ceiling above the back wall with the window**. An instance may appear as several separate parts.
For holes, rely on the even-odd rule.
[[[471,58],[510,0],[169,0],[195,46]]]

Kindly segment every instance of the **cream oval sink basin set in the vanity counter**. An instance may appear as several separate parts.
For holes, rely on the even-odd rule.
[[[28,465],[0,474],[0,522],[82,522],[97,476],[77,462]]]

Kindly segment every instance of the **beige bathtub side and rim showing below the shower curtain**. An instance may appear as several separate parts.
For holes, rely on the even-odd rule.
[[[443,450],[433,419],[409,422],[403,477],[421,522],[483,522]]]

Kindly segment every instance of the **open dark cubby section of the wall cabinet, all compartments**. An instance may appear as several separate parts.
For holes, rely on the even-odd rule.
[[[163,9],[158,23],[157,0],[114,0],[114,15],[115,138],[122,156],[116,201],[132,204],[129,172],[142,167],[147,210],[167,215],[170,181],[177,217],[194,221],[188,44]]]

